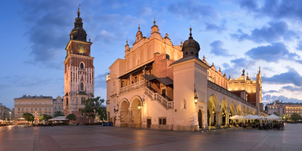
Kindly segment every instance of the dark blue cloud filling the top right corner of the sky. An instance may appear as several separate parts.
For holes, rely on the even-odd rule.
[[[302,19],[302,1],[267,0],[264,4],[260,4],[256,0],[241,0],[239,6],[249,13],[254,12],[257,17]]]

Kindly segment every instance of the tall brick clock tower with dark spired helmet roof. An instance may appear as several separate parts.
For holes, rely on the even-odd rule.
[[[93,119],[81,114],[85,107],[84,100],[94,95],[94,57],[90,56],[91,42],[86,41],[86,31],[83,29],[82,18],[75,20],[74,28],[69,34],[70,40],[65,48],[66,58],[64,61],[64,111],[65,116],[75,114],[73,124],[90,123]]]

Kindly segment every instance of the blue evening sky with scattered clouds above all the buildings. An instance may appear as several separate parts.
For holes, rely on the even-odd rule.
[[[262,102],[302,102],[302,1],[3,1],[0,103],[9,108],[22,95],[64,95],[64,59],[69,33],[80,17],[95,57],[95,96],[106,100],[109,66],[124,58],[137,27],[149,37],[153,18],[173,45],[192,36],[208,63],[237,78],[262,75]]]

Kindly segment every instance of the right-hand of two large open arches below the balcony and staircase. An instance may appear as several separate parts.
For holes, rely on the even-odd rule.
[[[128,127],[141,127],[141,108],[138,108],[139,104],[140,107],[142,106],[140,97],[134,96],[131,99],[130,104],[128,112]]]

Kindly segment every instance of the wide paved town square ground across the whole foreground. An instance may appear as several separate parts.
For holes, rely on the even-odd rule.
[[[128,127],[0,127],[0,150],[301,150],[302,124],[281,130],[176,132]]]

